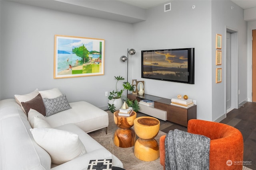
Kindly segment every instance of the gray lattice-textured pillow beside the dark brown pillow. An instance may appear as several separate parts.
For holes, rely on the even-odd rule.
[[[46,109],[46,117],[60,111],[71,109],[65,94],[62,94],[61,96],[53,99],[43,98],[43,100]]]

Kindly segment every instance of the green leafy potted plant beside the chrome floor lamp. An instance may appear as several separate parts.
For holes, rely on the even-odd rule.
[[[129,82],[123,82],[123,88],[121,90],[118,90],[118,88],[117,88],[118,81],[124,80],[124,78],[122,76],[114,76],[114,77],[117,80],[116,81],[116,90],[113,90],[112,92],[110,92],[108,99],[112,100],[112,99],[121,98],[124,101],[126,101],[127,105],[129,107],[132,107],[134,109],[134,111],[138,111],[138,109],[139,109],[138,101],[137,100],[135,100],[135,101],[129,100],[125,95],[123,95],[123,92],[125,90],[128,90],[130,92],[134,91],[134,86],[132,84],[130,84]],[[112,113],[114,113],[116,107],[114,106],[114,104],[108,104],[108,109]]]

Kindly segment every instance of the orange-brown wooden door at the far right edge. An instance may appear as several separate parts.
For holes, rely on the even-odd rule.
[[[256,102],[256,29],[252,30],[252,102]]]

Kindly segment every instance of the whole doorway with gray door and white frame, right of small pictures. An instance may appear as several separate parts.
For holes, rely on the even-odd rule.
[[[226,113],[238,109],[238,32],[226,28]]]

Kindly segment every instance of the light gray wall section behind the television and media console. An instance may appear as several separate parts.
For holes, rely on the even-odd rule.
[[[196,5],[195,9],[191,6]],[[203,14],[203,15],[202,15]],[[147,20],[134,25],[132,78],[145,81],[145,93],[164,98],[178,94],[196,100],[197,118],[212,120],[211,2],[172,1],[171,11],[164,6],[147,10]],[[141,51],[195,48],[195,84],[141,78]]]

